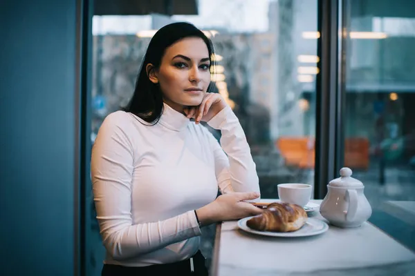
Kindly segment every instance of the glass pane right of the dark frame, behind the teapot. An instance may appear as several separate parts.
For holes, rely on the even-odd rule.
[[[345,166],[370,221],[415,250],[415,3],[351,1]]]

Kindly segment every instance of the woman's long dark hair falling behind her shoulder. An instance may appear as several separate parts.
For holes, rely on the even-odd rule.
[[[214,64],[214,60],[212,60],[212,55],[214,54],[213,44],[201,30],[191,23],[185,22],[166,25],[163,28],[160,28],[160,30],[154,34],[154,37],[151,38],[147,52],[142,61],[140,72],[138,73],[133,97],[127,106],[123,108],[124,111],[131,112],[148,123],[157,124],[158,119],[160,119],[160,116],[163,113],[163,93],[158,84],[154,84],[149,80],[146,66],[151,63],[154,68],[158,70],[166,48],[185,37],[200,37],[205,41],[206,46],[208,46],[210,66],[212,68]],[[212,83],[210,83],[208,90],[211,86]]]

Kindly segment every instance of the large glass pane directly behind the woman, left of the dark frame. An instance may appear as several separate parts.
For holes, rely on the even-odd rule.
[[[103,119],[129,101],[154,32],[167,23],[190,21],[214,43],[216,90],[227,99],[246,133],[261,196],[277,198],[280,183],[313,185],[317,0],[196,3],[196,14],[93,17],[91,141]],[[220,134],[212,132],[219,139]],[[100,237],[94,218],[93,224],[97,242],[91,244],[95,263],[89,266],[98,275],[104,249],[97,246]],[[214,226],[203,230],[201,250],[208,261],[213,238]]]

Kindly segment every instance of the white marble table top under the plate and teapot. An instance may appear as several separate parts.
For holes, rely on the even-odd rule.
[[[313,217],[325,221],[318,211]],[[212,275],[415,275],[415,254],[369,222],[287,238],[246,233],[226,221],[216,227],[214,246]]]

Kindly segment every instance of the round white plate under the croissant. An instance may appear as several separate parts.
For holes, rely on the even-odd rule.
[[[268,231],[257,231],[249,228],[246,225],[246,221],[250,219],[251,217],[246,217],[244,219],[239,219],[238,221],[238,227],[242,230],[262,235],[262,236],[269,236],[269,237],[308,237],[308,236],[314,236],[314,235],[320,235],[326,230],[329,230],[329,225],[327,225],[324,221],[321,221],[320,219],[314,219],[311,217],[308,217],[306,224],[302,226],[302,228],[299,228],[299,230],[295,232],[287,232],[287,233],[280,233],[280,232],[268,232]]]

